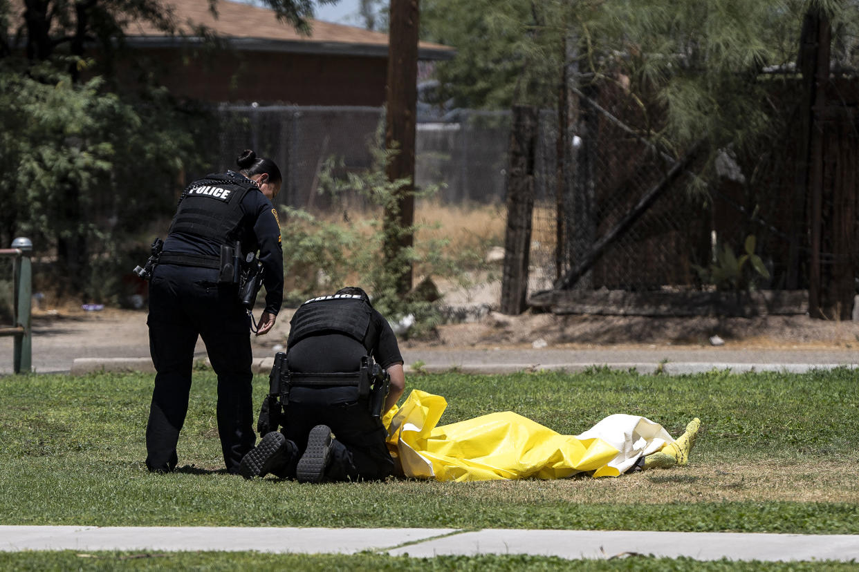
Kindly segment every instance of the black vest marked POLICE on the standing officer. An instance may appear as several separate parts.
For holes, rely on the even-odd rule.
[[[226,175],[207,175],[182,193],[179,209],[170,225],[174,232],[204,238],[216,244],[232,244],[239,238],[241,200],[258,187],[252,181]]]

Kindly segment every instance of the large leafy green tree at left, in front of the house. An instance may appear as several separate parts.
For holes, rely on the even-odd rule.
[[[307,31],[313,0],[265,3]],[[125,51],[132,21],[180,33],[169,5],[25,4],[19,16],[0,3],[0,241],[27,235],[40,256],[56,252],[37,287],[113,301],[131,254],[146,250],[137,233],[172,214],[180,178],[210,163],[213,122],[202,107],[174,100],[151,68],[135,67],[145,58]],[[218,45],[210,30],[192,33],[205,47]],[[128,56],[125,67],[139,72],[131,82],[131,74],[117,75]]]

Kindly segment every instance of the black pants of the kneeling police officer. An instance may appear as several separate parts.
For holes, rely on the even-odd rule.
[[[325,473],[327,479],[385,479],[393,473],[393,459],[385,444],[387,431],[370,417],[365,402],[344,403],[338,398],[337,389],[293,388],[290,392],[289,405],[284,407],[282,432],[298,446],[299,455],[284,476],[295,476],[295,465],[307,447],[308,433],[314,426],[324,424],[331,427],[335,437]]]

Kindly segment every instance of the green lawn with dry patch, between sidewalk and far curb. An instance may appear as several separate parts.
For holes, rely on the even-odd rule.
[[[169,475],[143,464],[150,376],[0,377],[0,524],[859,533],[856,375],[411,376],[407,390],[448,399],[442,423],[509,409],[575,434],[625,412],[704,430],[689,467],[617,479],[327,485],[222,473],[208,371]],[[257,406],[267,385],[254,380]]]

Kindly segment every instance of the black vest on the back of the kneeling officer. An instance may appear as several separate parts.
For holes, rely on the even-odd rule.
[[[289,321],[289,346],[323,332],[337,332],[362,344],[367,337],[372,308],[357,294],[320,296],[302,304]],[[288,348],[289,349],[289,348]]]

